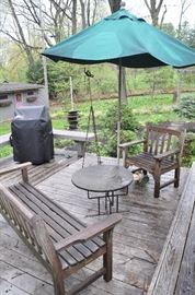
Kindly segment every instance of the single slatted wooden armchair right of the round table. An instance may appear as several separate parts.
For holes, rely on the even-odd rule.
[[[184,129],[170,129],[147,125],[144,140],[119,144],[119,149],[123,151],[123,165],[125,167],[129,165],[138,167],[133,173],[137,170],[142,170],[144,175],[147,175],[147,172],[150,173],[154,179],[153,197],[159,198],[161,188],[171,184],[174,184],[175,188],[179,187],[184,139]],[[140,143],[144,143],[144,152],[128,156],[128,148]],[[174,178],[160,184],[161,175],[172,169],[175,170]]]

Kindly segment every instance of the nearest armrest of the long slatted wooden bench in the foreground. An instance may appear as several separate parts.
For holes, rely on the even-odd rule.
[[[81,232],[78,232],[70,237],[61,239],[60,241],[56,243],[54,245],[55,249],[56,251],[60,251],[74,244],[87,241],[88,239],[93,238],[94,236],[97,236],[102,233],[113,229],[114,226],[121,221],[122,221],[121,214],[112,214],[106,220],[87,226]]]

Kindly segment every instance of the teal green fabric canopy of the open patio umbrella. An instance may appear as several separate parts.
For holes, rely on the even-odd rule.
[[[195,50],[125,9],[46,49],[43,55],[54,61],[112,62],[128,68],[195,64]]]

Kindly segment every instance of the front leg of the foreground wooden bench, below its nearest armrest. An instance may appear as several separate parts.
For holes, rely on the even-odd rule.
[[[108,282],[113,278],[113,229],[104,233],[103,239],[106,244],[106,253],[103,256],[103,266],[106,270],[104,280]]]

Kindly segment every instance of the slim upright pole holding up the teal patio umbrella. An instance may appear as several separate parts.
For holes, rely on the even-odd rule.
[[[117,164],[119,165],[121,120],[122,120],[122,60],[119,59],[118,73],[118,121],[117,121]]]

